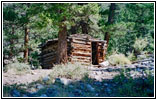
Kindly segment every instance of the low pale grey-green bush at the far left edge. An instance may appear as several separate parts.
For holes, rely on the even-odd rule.
[[[8,64],[4,68],[4,71],[12,73],[12,74],[24,74],[24,73],[30,72],[30,66],[26,63],[14,62],[14,63]]]

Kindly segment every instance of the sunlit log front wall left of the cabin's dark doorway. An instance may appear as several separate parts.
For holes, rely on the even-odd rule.
[[[71,55],[69,59],[71,62],[80,62],[86,65],[90,65],[92,50],[91,42],[84,38],[70,38]]]

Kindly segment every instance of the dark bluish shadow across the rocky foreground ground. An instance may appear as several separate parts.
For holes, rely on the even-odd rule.
[[[124,74],[101,82],[85,76],[81,80],[54,83],[39,81],[3,86],[4,97],[153,97],[154,77],[131,78]]]

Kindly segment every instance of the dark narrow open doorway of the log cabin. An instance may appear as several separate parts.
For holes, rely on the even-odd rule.
[[[98,43],[92,42],[92,64],[98,65]]]

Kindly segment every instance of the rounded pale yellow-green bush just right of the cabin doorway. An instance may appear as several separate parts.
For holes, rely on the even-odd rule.
[[[125,64],[131,64],[130,60],[125,57],[124,54],[112,54],[108,57],[109,63],[111,65],[125,65]]]

